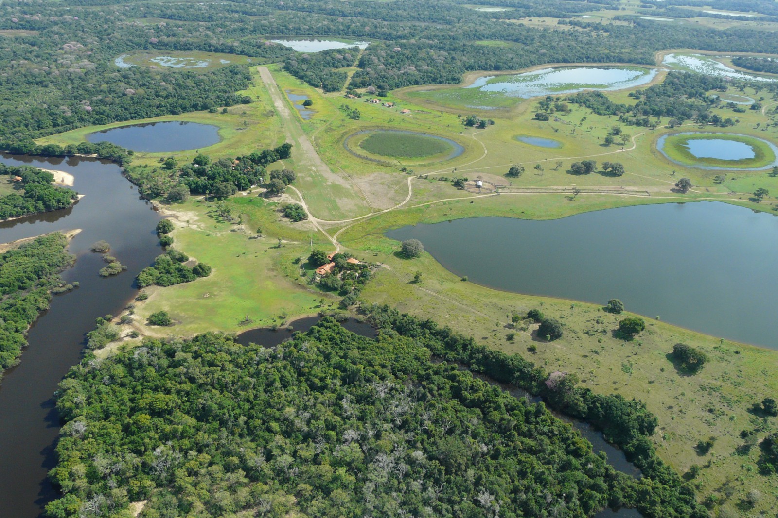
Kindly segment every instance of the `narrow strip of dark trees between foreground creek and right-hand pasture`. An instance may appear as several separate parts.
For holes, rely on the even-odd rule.
[[[464,364],[495,381],[541,395],[552,408],[600,429],[608,442],[619,446],[627,459],[640,468],[644,477],[636,482],[636,487],[612,494],[611,506],[636,507],[649,518],[709,516],[696,502],[692,486],[657,457],[650,440],[657,417],[642,402],[576,387],[579,380],[574,374],[548,373],[518,354],[489,349],[432,320],[401,314],[387,306],[373,305],[369,309],[370,322],[381,331],[413,339],[440,359]]]

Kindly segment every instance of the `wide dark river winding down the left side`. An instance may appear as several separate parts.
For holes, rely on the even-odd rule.
[[[135,276],[162,253],[154,233],[159,215],[138,196],[117,165],[90,158],[33,158],[0,155],[0,162],[58,169],[75,176],[73,189],[85,194],[66,210],[0,223],[0,242],[46,232],[81,228],[70,243],[77,256],[63,279],[80,287],[55,295],[51,308],[30,328],[30,343],[18,366],[0,385],[0,502],[2,516],[35,518],[58,493],[47,479],[54,468],[59,417],[54,391],[68,369],[79,362],[84,334],[95,318],[117,315],[137,294]],[[89,252],[94,242],[109,242],[110,255],[128,267],[103,278],[102,256]]]

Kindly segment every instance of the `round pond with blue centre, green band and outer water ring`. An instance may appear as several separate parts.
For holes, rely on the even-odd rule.
[[[696,169],[757,171],[778,163],[775,144],[741,134],[668,134],[659,138],[657,149],[671,162]]]

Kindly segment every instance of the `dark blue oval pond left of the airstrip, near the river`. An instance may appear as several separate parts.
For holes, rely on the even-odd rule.
[[[108,141],[141,153],[165,153],[206,148],[219,142],[219,127],[172,120],[114,127],[86,136],[89,142]]]

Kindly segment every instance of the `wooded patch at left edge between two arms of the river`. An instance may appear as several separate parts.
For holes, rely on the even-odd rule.
[[[2,176],[14,179],[12,181],[19,186],[19,192],[22,194],[9,193],[0,196],[0,221],[65,209],[71,207],[74,200],[79,199],[79,195],[71,189],[51,185],[54,183],[54,175],[41,169],[0,164],[0,177]]]

